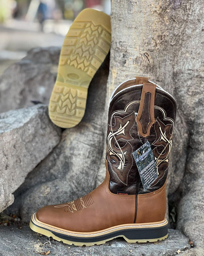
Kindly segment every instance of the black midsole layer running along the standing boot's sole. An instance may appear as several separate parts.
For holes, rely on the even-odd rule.
[[[32,220],[31,220],[32,221]],[[33,221],[32,221],[33,223]],[[39,228],[43,228],[41,226],[36,225],[35,226]],[[55,231],[52,231],[48,228],[43,228],[48,231],[50,231],[55,236],[72,241],[72,242],[82,242],[82,243],[94,243],[98,241],[103,241],[109,238],[113,238],[116,236],[125,236],[127,239],[132,240],[142,240],[142,239],[157,239],[162,238],[163,236],[166,236],[168,234],[168,223],[165,226],[162,227],[155,227],[155,228],[135,228],[135,229],[122,229],[119,231],[114,231],[112,233],[103,234],[101,236],[95,236],[95,237],[76,237],[76,236],[70,236],[67,234],[58,233]]]

